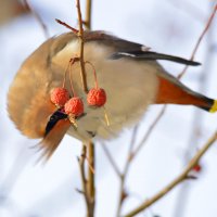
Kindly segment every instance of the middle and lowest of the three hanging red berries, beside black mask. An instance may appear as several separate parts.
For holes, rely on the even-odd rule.
[[[80,98],[71,98],[64,106],[65,113],[67,115],[80,116],[84,113],[84,103]]]

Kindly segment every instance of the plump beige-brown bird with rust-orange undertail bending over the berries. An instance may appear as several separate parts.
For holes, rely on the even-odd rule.
[[[103,106],[90,106],[80,80],[79,37],[73,31],[43,42],[23,63],[8,93],[9,116],[28,138],[40,138],[39,146],[50,158],[67,133],[82,142],[110,140],[139,123],[152,104],[193,105],[206,112],[217,111],[217,101],[191,90],[167,73],[158,61],[199,66],[183,58],[152,51],[149,47],[118,38],[103,30],[84,31],[84,61],[87,88],[95,77],[106,92]],[[72,76],[71,79],[68,76]],[[51,102],[51,91],[62,87],[84,103],[84,114],[69,122],[64,110]],[[72,86],[74,90],[72,89]],[[105,122],[105,114],[108,124]]]

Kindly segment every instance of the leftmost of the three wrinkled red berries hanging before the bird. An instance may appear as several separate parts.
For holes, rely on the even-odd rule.
[[[58,106],[64,106],[69,100],[69,93],[65,88],[54,88],[51,92],[51,102]]]

